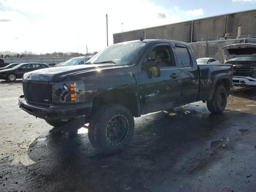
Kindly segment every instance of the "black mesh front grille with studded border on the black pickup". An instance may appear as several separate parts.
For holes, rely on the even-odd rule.
[[[52,104],[52,82],[23,80],[22,86],[26,102],[43,106]]]

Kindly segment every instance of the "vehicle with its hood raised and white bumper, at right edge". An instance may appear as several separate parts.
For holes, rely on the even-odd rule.
[[[226,64],[234,68],[234,86],[256,86],[256,44],[232,44],[222,48]]]

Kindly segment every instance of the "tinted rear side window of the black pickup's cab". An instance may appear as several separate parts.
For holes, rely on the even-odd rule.
[[[175,52],[176,52],[176,55],[178,57],[181,67],[191,67],[192,66],[190,55],[188,53],[188,49],[186,48],[186,46],[184,46],[184,45],[176,46]]]

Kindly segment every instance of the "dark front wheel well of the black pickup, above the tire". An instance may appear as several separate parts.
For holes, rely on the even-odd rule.
[[[140,116],[136,96],[131,90],[111,90],[97,95],[92,100],[92,111],[103,104],[122,104],[132,112],[133,116]]]

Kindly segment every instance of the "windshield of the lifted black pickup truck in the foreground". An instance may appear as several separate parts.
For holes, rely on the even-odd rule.
[[[96,54],[89,62],[127,65],[135,59],[145,44],[146,42],[131,42],[112,45]]]

